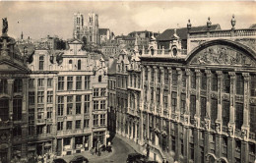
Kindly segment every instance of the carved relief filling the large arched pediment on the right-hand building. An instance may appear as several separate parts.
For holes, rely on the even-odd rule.
[[[245,54],[224,45],[214,45],[203,49],[194,57],[191,63],[199,65],[256,67],[255,61],[251,60]]]

